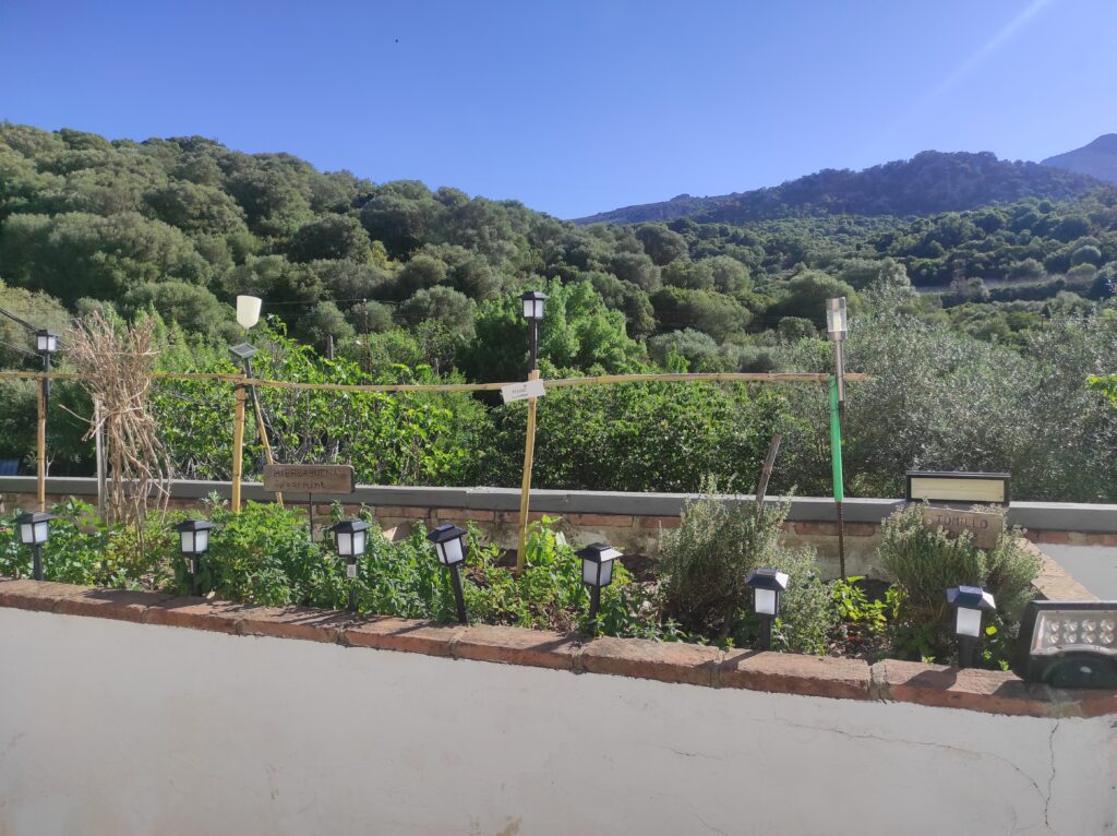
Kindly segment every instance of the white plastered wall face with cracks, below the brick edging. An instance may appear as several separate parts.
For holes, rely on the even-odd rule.
[[[1110,719],[0,608],[2,836],[1099,836],[1115,778]]]

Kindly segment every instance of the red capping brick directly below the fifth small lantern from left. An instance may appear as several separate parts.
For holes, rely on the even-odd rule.
[[[607,636],[586,645],[579,664],[595,674],[713,685],[722,655],[718,648],[703,645]]]

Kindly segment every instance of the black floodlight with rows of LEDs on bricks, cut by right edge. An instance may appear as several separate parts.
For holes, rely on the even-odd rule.
[[[1117,687],[1117,601],[1031,601],[1015,672],[1056,687]]]

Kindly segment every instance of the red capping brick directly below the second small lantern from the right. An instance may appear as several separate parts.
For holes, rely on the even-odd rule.
[[[729,650],[717,671],[720,687],[844,700],[868,700],[870,682],[861,659],[796,653]]]

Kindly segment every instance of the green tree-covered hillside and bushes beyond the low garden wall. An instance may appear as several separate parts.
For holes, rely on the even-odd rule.
[[[1003,199],[1033,182],[1032,168],[968,156],[1001,172]],[[848,212],[890,193],[866,215],[577,226],[515,201],[324,173],[201,137],[111,142],[0,124],[0,306],[52,327],[93,310],[153,313],[168,324],[163,368],[213,370],[231,368],[223,345],[242,335],[230,303],[249,293],[273,317],[267,340],[277,348],[273,364],[260,361],[265,372],[504,381],[526,371],[515,298],[526,288],[552,296],[541,331],[546,376],[825,370],[823,302],[846,295],[850,368],[875,376],[850,400],[855,494],[895,493],[905,469],[925,466],[1011,471],[1021,498],[1115,500],[1117,460],[1102,452],[1117,448],[1117,410],[1086,379],[1113,371],[1117,357],[1117,189],[1079,194],[1090,181],[1042,169],[1057,194],[1077,197],[880,213],[968,188],[936,168],[954,171],[954,162],[923,160],[923,192],[905,175],[890,193],[884,183],[899,170],[886,165],[857,199],[827,191],[852,182],[841,172],[808,179],[809,200],[787,190],[772,198]],[[332,363],[322,358],[330,343]],[[27,352],[26,335],[0,320],[0,365],[35,363]],[[87,414],[80,393],[67,401],[59,392],[70,412],[51,421]],[[25,456],[34,391],[3,383],[0,396],[0,458]],[[218,402],[217,393],[179,397]],[[618,387],[544,401],[541,487],[696,490],[713,475],[750,490],[782,428],[774,490],[829,490],[821,391]],[[341,440],[354,431],[349,414],[328,402],[277,402],[270,420],[309,422],[285,430],[286,460],[350,456],[361,478],[381,482],[518,484],[515,408],[386,403],[361,412],[352,448]],[[182,472],[228,473],[220,408],[168,401],[163,415]],[[79,435],[54,427],[54,472],[88,471]],[[373,438],[379,446],[360,447]]]

